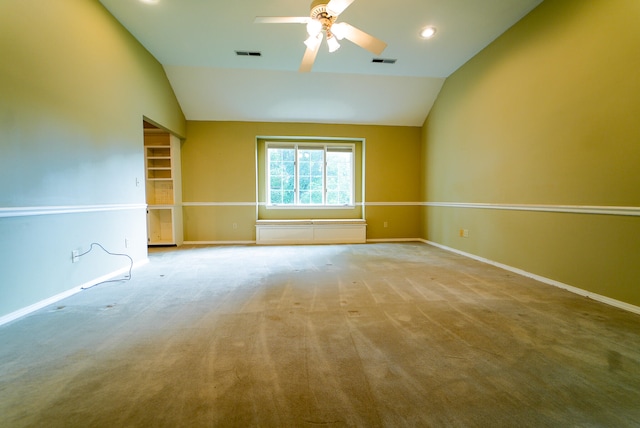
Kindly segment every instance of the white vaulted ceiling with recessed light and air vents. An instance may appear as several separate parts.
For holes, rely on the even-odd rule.
[[[311,0],[100,2],[164,66],[189,120],[421,126],[446,77],[542,0],[355,0],[338,21],[386,50],[323,44],[311,73],[297,71],[304,25],[253,23],[308,16]],[[438,29],[431,40],[418,34],[427,25]]]

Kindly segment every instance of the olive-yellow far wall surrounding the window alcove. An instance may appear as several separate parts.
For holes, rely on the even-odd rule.
[[[367,238],[418,238],[420,133],[419,127],[189,121],[182,145],[185,241],[255,240],[257,137],[363,139]],[[307,218],[326,215],[316,210]]]

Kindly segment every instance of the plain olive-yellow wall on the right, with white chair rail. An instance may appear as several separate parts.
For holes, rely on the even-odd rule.
[[[423,197],[526,206],[430,206],[427,239],[640,305],[640,217],[530,210],[640,206],[638,17],[636,0],[545,1],[447,79]]]

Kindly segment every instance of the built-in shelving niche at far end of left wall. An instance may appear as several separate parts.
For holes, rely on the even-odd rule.
[[[144,161],[148,244],[181,245],[180,140],[160,129],[145,129]]]

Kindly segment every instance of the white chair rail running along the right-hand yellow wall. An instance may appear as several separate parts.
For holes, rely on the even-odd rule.
[[[619,216],[640,216],[640,207],[607,205],[538,205],[538,204],[489,204],[467,202],[423,202],[427,207],[479,208],[511,211],[542,211],[574,214],[604,214]]]

